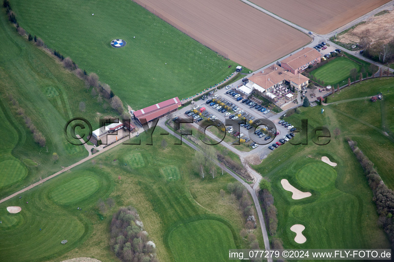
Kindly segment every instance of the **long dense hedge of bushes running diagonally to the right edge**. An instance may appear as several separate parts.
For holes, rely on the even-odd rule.
[[[379,214],[379,224],[383,227],[390,239],[391,246],[394,247],[394,192],[385,185],[379,174],[374,169],[374,163],[365,156],[357,147],[357,142],[347,138],[350,148],[361,163],[364,173],[368,179],[368,184],[374,194],[377,213]]]

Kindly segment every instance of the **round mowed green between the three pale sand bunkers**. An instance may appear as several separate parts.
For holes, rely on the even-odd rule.
[[[305,187],[323,188],[335,181],[336,172],[328,164],[310,163],[298,171],[297,177]]]

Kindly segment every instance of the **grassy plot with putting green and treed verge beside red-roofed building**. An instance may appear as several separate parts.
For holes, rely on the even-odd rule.
[[[330,62],[328,62],[324,66],[321,66],[320,68],[317,68],[316,70],[310,72],[310,75],[313,75],[314,77],[316,77],[316,79],[324,81],[325,85],[332,85],[336,88],[337,84],[339,84],[339,86],[343,86],[348,82],[348,78],[350,77],[350,70],[352,68],[357,68],[356,79],[359,79],[361,71],[363,72],[363,77],[366,77],[366,73],[368,73],[368,76],[371,76],[372,73],[375,73],[371,71],[370,63],[358,59],[357,57],[354,57],[347,53],[344,54],[346,54],[351,59],[349,59],[348,57],[338,56],[335,59],[330,60]],[[351,81],[354,80],[351,78]]]

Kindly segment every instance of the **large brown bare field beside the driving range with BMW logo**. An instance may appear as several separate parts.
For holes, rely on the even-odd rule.
[[[136,2],[143,6],[146,4],[150,7],[147,8],[149,11],[154,9],[155,13],[159,12],[158,16],[164,16],[167,19],[163,19],[173,26],[193,33],[223,50],[229,59],[252,70],[287,55],[311,40],[300,31],[239,0]]]

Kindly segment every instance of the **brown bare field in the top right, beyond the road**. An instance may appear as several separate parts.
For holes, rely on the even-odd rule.
[[[327,34],[390,0],[250,0],[310,31]]]

